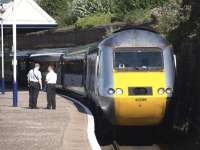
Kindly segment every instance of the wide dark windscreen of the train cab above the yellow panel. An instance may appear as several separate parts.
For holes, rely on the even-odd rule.
[[[161,70],[162,51],[158,49],[118,50],[114,52],[114,65],[117,70]]]

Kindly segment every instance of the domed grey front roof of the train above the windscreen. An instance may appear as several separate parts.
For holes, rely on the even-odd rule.
[[[100,47],[157,47],[164,49],[171,44],[159,33],[145,29],[128,29],[114,33],[103,40]]]

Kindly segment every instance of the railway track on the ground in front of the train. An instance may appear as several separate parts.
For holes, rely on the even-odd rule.
[[[120,146],[116,141],[113,141],[111,145],[102,146],[102,150],[163,150],[158,145],[152,146]]]

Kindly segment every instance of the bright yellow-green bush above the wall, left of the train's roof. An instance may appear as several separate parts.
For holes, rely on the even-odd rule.
[[[111,23],[111,14],[98,13],[85,18],[79,18],[75,23],[75,27],[84,29],[109,23]]]

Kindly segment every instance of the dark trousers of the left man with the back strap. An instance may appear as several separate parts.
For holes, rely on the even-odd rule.
[[[40,84],[36,82],[30,82],[29,85],[29,107],[37,107],[37,99],[40,91]]]

